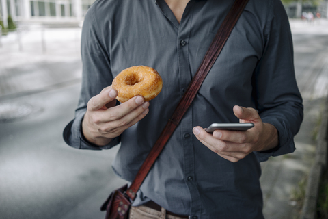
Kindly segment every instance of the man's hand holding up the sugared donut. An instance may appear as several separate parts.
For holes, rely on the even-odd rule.
[[[149,102],[144,101],[142,96],[135,96],[118,106],[116,96],[118,92],[109,86],[87,103],[82,122],[83,135],[87,141],[104,146],[135,125],[149,111]]]

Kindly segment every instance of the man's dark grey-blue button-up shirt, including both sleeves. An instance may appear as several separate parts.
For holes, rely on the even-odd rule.
[[[179,24],[163,0],[96,1],[83,24],[81,96],[64,130],[66,142],[79,149],[109,149],[120,142],[113,169],[133,181],[232,3],[191,0]],[[120,71],[137,65],[155,68],[163,90],[150,101],[147,116],[109,145],[89,144],[81,135],[87,101]],[[279,146],[232,163],[193,136],[197,125],[238,123],[234,105],[256,108],[263,122],[277,128]],[[302,118],[286,12],[279,0],[250,0],[133,205],[151,199],[198,218],[262,218],[259,162],[295,150],[293,136]]]

